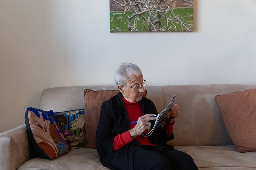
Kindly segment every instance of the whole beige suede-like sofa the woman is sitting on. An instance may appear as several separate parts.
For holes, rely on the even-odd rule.
[[[84,108],[84,89],[116,90],[115,86],[80,86],[44,89],[40,108],[54,112]],[[192,156],[200,170],[256,170],[256,152],[239,153],[232,144],[214,100],[215,95],[244,91],[256,85],[167,85],[147,86],[147,98],[158,112],[176,93],[180,116],[170,144]],[[21,112],[25,112],[24,110]],[[0,134],[1,170],[107,169],[96,149],[75,149],[54,160],[29,158],[26,127]]]

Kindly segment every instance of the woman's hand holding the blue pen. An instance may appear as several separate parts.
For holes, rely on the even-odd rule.
[[[156,119],[156,117],[150,117],[153,115],[154,114],[146,114],[146,115],[139,117],[138,122],[134,126],[134,128],[129,130],[132,139],[134,137],[140,136],[146,129],[148,131],[150,130],[151,123],[148,121]]]

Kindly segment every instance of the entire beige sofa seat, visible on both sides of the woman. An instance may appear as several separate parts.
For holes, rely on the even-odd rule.
[[[236,146],[175,146],[188,153],[199,170],[255,170],[256,152],[239,153]],[[58,159],[34,158],[24,162],[18,170],[107,170],[100,163],[96,149],[74,149]]]

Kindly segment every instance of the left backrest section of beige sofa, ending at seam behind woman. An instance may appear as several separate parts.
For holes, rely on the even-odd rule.
[[[40,99],[40,109],[63,112],[84,108],[84,90],[117,90],[116,86],[77,86],[55,87],[44,89]],[[147,98],[151,99],[158,110],[164,109],[164,93],[162,86],[147,86]]]

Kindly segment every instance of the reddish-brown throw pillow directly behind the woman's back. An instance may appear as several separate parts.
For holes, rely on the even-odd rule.
[[[84,91],[84,103],[85,103],[85,137],[86,137],[86,147],[96,148],[95,135],[98,126],[98,121],[100,117],[100,107],[101,104],[116,95],[118,90],[100,90],[93,91],[90,89],[85,89]],[[146,97],[147,91],[143,94]]]

